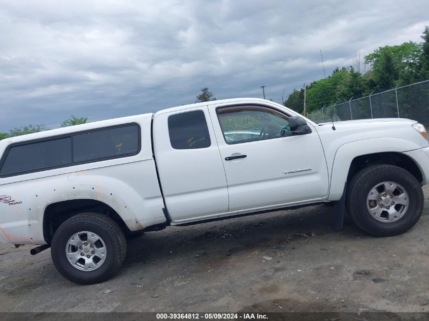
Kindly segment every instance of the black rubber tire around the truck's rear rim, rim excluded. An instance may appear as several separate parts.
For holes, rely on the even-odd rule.
[[[92,271],[82,271],[74,267],[65,254],[69,239],[81,231],[89,231],[100,236],[107,249],[105,261]],[[55,231],[51,242],[51,256],[56,269],[62,276],[78,284],[93,284],[107,280],[119,270],[125,254],[124,233],[115,221],[98,213],[82,213],[68,219]]]

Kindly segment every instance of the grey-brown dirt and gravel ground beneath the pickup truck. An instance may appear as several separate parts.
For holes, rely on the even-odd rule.
[[[92,286],[61,277],[49,250],[1,244],[0,311],[429,312],[424,192],[420,221],[394,237],[337,232],[325,205],[148,232]]]

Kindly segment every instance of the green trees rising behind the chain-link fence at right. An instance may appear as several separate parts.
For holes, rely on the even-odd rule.
[[[307,113],[352,97],[367,96],[371,92],[429,79],[428,26],[424,28],[421,38],[422,43],[409,41],[401,45],[379,47],[364,57],[356,51],[350,66],[337,67],[325,79],[306,85]],[[302,112],[304,87],[294,89],[283,104]]]

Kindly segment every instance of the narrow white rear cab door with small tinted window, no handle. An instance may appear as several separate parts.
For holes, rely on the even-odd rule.
[[[153,140],[173,222],[228,211],[225,170],[207,106],[157,113]]]

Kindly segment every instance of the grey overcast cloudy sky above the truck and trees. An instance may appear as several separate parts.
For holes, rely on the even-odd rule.
[[[280,101],[355,50],[420,42],[429,1],[0,0],[0,132],[216,98]]]

